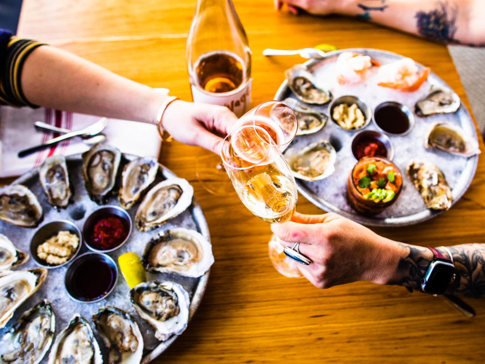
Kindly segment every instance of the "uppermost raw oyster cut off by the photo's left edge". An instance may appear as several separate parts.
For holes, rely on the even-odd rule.
[[[0,219],[17,226],[35,228],[43,217],[42,206],[27,187],[9,184],[0,188]]]

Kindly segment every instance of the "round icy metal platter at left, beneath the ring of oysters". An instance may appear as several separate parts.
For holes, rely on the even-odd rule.
[[[136,160],[137,158],[137,156],[129,154],[121,155],[119,170],[116,175],[115,188],[113,190],[113,193],[108,195],[106,198],[103,198],[103,202],[105,205],[120,205],[120,202],[117,198],[116,186],[119,186],[120,181],[123,178],[121,171],[123,170],[123,167],[125,165],[127,165],[130,161]],[[56,210],[49,204],[46,193],[43,191],[43,188],[39,183],[40,168],[35,168],[29,171],[28,173],[19,177],[15,182],[13,182],[13,184],[22,184],[29,188],[32,191],[33,195],[37,197],[44,212],[43,220],[40,222],[37,228],[20,227],[11,225],[5,221],[0,221],[0,233],[8,237],[8,239],[10,239],[14,243],[16,249],[23,252],[29,252],[29,254],[32,255],[32,252],[30,251],[30,242],[35,232],[38,231],[39,227],[43,227],[52,221],[70,220],[81,229],[85,225],[88,216],[102,206],[98,205],[94,200],[90,199],[88,193],[86,192],[86,187],[84,186],[83,179],[81,177],[82,165],[83,162],[81,155],[78,154],[66,157],[66,168],[68,170],[69,180],[74,192],[71,197],[71,202],[64,209]],[[171,179],[172,181],[174,181],[175,179],[177,181],[185,181],[182,179],[177,179],[177,176],[173,172],[171,172],[162,165],[158,165],[157,163],[154,163],[153,173],[155,175],[153,185],[155,186],[161,184],[167,179]],[[184,187],[184,189],[185,188],[191,189],[192,187],[189,185],[187,187]],[[91,191],[92,194],[95,192],[95,189]],[[197,201],[195,199],[192,199],[192,195],[185,205],[188,205],[188,208],[184,209],[180,212],[179,215],[165,221],[164,223],[157,224],[156,228],[153,230],[150,230],[149,226],[146,225],[146,223],[141,226],[143,229],[138,229],[135,227],[135,214],[137,212],[138,206],[140,205],[140,201],[135,202],[133,205],[133,203],[131,202],[131,197],[127,194],[124,195],[127,197],[123,200],[123,204],[125,206],[132,205],[132,207],[127,210],[127,212],[131,217],[131,220],[133,221],[133,229],[131,230],[131,234],[129,235],[129,238],[126,243],[124,243],[124,245],[113,251],[107,250],[106,259],[113,262],[114,269],[118,269],[117,263],[114,262],[118,261],[118,257],[120,255],[126,252],[134,252],[140,258],[142,258],[147,244],[151,244],[150,248],[153,249],[154,242],[157,241],[158,237],[167,235],[167,231],[170,231],[170,234],[172,235],[185,233],[194,236],[200,236],[201,239],[205,238],[205,240],[208,241],[207,244],[209,245],[210,249],[209,229],[202,210]],[[99,194],[99,196],[101,196],[101,194]],[[98,196],[95,196],[96,199],[97,197]],[[116,209],[119,208],[116,207]],[[147,219],[148,218],[146,218],[146,221],[148,221]],[[179,235],[177,235],[177,237],[178,236]],[[90,251],[83,241],[81,241],[81,244],[81,249],[79,253],[77,253],[76,257],[79,257],[82,254]],[[6,247],[9,251],[12,250],[15,254],[15,250],[13,250],[13,248],[11,248],[9,244],[3,244],[2,246]],[[88,254],[83,255],[83,258],[87,255]],[[24,260],[23,256],[18,254],[17,256],[19,261],[13,265],[9,264],[10,267],[14,267],[16,264],[21,263]],[[153,264],[153,261],[150,259],[152,259],[151,256],[148,259],[148,263]],[[71,265],[67,263],[57,268],[45,270],[42,268],[38,268],[38,266],[35,264],[34,259],[31,256],[27,262],[19,267],[16,266],[13,270],[13,273],[9,273],[9,275],[12,277],[14,276],[14,274],[24,274],[25,277],[23,279],[26,282],[28,282],[29,280],[35,281],[36,279],[40,281],[40,278],[42,278],[43,284],[39,285],[38,289],[34,291],[32,296],[28,297],[15,310],[13,317],[8,320],[8,323],[2,329],[0,329],[0,337],[7,337],[8,335],[4,334],[11,329],[12,325],[19,318],[19,322],[26,322],[26,319],[34,314],[42,313],[46,317],[50,317],[53,312],[55,314],[55,332],[52,335],[52,329],[50,329],[49,331],[51,339],[53,336],[53,344],[51,347],[49,347],[49,350],[53,350],[52,347],[57,347],[58,342],[62,341],[63,337],[66,336],[69,331],[72,332],[74,330],[72,328],[77,327],[76,330],[84,332],[85,335],[87,335],[88,337],[92,338],[94,333],[94,337],[99,344],[100,352],[98,352],[99,349],[95,350],[95,352],[97,353],[93,358],[93,363],[99,363],[101,354],[104,358],[108,358],[108,350],[106,348],[106,345],[103,343],[103,338],[99,334],[99,332],[103,330],[103,327],[106,326],[106,322],[108,320],[107,317],[116,317],[114,319],[118,320],[118,322],[122,322],[123,320],[125,320],[125,322],[132,322],[130,321],[132,319],[139,327],[139,330],[136,328],[136,330],[133,330],[133,333],[138,338],[138,343],[143,341],[144,348],[143,352],[140,352],[141,350],[138,350],[138,348],[141,347],[137,347],[136,351],[134,351],[133,353],[130,353],[129,351],[125,352],[123,356],[133,355],[133,358],[136,357],[136,359],[128,360],[124,357],[123,362],[149,363],[158,355],[160,355],[168,346],[170,346],[170,344],[178,337],[178,333],[181,333],[183,331],[186,323],[177,322],[177,327],[173,325],[173,327],[168,330],[166,327],[161,327],[161,325],[159,325],[159,322],[157,321],[155,322],[157,330],[155,330],[152,327],[154,320],[150,321],[149,317],[144,317],[142,314],[144,314],[145,316],[148,315],[146,315],[143,310],[140,310],[140,306],[132,305],[130,299],[133,300],[133,302],[139,302],[141,298],[138,299],[137,297],[133,297],[134,295],[141,297],[141,293],[144,292],[149,292],[149,294],[152,291],[155,292],[155,290],[158,290],[156,292],[159,292],[161,286],[163,286],[164,289],[166,288],[170,292],[183,292],[183,294],[177,293],[178,298],[183,301],[183,303],[180,303],[178,307],[180,312],[183,311],[184,314],[188,314],[190,320],[200,303],[209,279],[209,271],[207,271],[207,266],[205,269],[203,269],[203,271],[192,272],[191,274],[185,274],[184,276],[177,274],[179,272],[174,271],[174,273],[162,273],[158,271],[157,266],[150,266],[151,269],[147,269],[148,271],[146,272],[147,282],[138,284],[136,286],[136,291],[131,290],[130,292],[127,282],[120,273],[118,280],[113,288],[113,291],[109,293],[106,298],[95,300],[92,303],[82,303],[71,299],[65,288],[66,271],[68,271],[70,266]],[[208,266],[210,266],[210,264]],[[31,272],[27,272],[28,270],[30,270]],[[100,273],[93,272],[90,275],[93,274],[94,276],[96,276],[96,274],[98,274],[99,276]],[[40,275],[43,276],[40,277]],[[161,283],[154,284],[151,281],[158,281]],[[7,300],[9,298],[4,299]],[[106,308],[99,311],[103,307]],[[21,317],[22,314],[24,315]],[[76,314],[77,316],[73,316],[73,314]],[[150,322],[150,324],[147,321]],[[51,321],[46,320],[45,322],[47,323],[46,328],[49,329],[48,326],[50,325],[49,322]],[[168,322],[168,320],[164,322]],[[53,321],[51,322],[51,324],[54,325]],[[185,326],[179,327],[179,324]],[[113,325],[113,323],[111,325]],[[69,328],[66,329],[67,327]],[[66,330],[63,331],[63,329]],[[39,332],[41,331],[42,330],[40,330]],[[173,332],[175,332],[176,334],[172,335]],[[71,341],[66,339],[66,342]],[[47,362],[48,354],[44,356],[44,359],[40,363]]]

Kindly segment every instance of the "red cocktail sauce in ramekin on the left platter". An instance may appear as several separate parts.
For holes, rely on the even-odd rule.
[[[98,250],[109,250],[116,248],[128,236],[128,228],[124,221],[111,215],[100,219],[93,227],[91,234],[91,246]]]

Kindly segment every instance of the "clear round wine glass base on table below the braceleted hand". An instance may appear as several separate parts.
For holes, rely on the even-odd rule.
[[[202,187],[213,195],[228,196],[235,193],[221,157],[217,154],[198,157],[195,160],[195,175]]]

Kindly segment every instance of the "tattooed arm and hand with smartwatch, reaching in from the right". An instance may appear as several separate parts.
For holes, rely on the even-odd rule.
[[[288,247],[299,242],[299,251],[312,260],[298,265],[319,288],[354,281],[372,281],[420,289],[420,281],[433,261],[429,248],[399,243],[377,235],[340,215],[301,215],[291,222],[273,224],[273,232]],[[485,296],[485,244],[448,247],[453,254],[455,281],[447,292],[459,296]],[[438,248],[447,256],[448,253]]]

